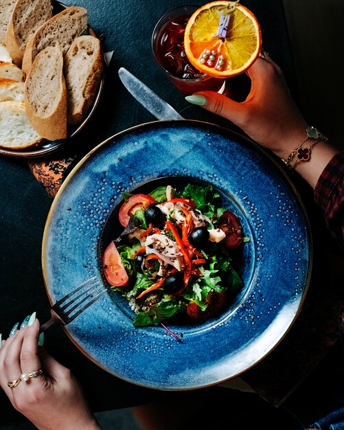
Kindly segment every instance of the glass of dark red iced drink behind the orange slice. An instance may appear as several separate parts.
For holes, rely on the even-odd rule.
[[[183,6],[165,14],[154,28],[152,48],[161,67],[170,80],[185,95],[196,91],[222,92],[225,80],[211,78],[195,69],[184,51],[184,32],[187,21],[196,6]]]

